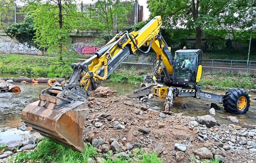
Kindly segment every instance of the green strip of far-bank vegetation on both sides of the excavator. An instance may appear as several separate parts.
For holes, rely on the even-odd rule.
[[[58,61],[51,57],[30,57],[22,55],[0,55],[0,73],[32,75],[37,77],[69,77],[72,73],[70,65],[78,62],[76,59]],[[137,82],[143,81],[143,75],[150,75],[149,68],[120,67],[115,70],[109,81]],[[239,74],[203,74],[199,82],[203,88],[225,90],[226,88],[255,89],[255,74],[243,76]]]

